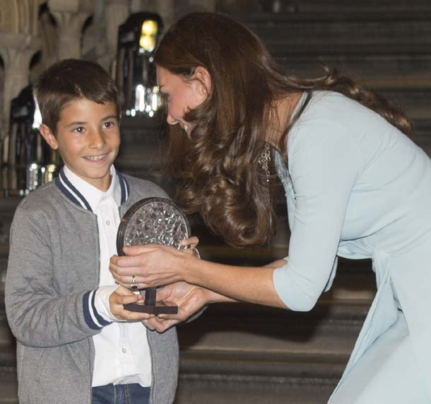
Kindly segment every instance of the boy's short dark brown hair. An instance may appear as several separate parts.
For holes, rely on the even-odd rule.
[[[80,98],[98,104],[114,102],[117,118],[120,105],[117,87],[111,76],[99,64],[81,59],[64,59],[42,72],[33,86],[33,92],[42,114],[42,122],[57,133],[64,106]]]

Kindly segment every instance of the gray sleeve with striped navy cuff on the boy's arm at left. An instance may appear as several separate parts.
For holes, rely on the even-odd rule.
[[[16,339],[33,347],[82,340],[110,323],[92,311],[91,296],[95,291],[59,294],[49,239],[49,229],[40,215],[23,208],[21,203],[11,226],[6,314]],[[96,326],[97,318],[100,321]]]

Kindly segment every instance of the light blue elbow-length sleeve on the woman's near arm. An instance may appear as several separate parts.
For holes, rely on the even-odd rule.
[[[361,158],[353,134],[336,121],[310,119],[292,136],[288,152],[295,213],[288,263],[274,271],[273,283],[287,307],[309,311],[333,278]]]

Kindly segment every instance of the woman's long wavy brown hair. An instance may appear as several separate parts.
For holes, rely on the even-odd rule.
[[[266,180],[258,160],[271,137],[270,113],[278,100],[307,92],[281,138],[283,155],[289,129],[312,90],[342,93],[404,133],[411,131],[406,117],[383,97],[337,71],[326,69],[313,79],[286,76],[259,37],[222,14],[184,16],[165,33],[155,62],[184,81],[194,80],[197,66],[211,76],[208,99],[184,116],[194,123],[191,141],[179,125],[170,129],[167,168],[181,181],[177,201],[184,210],[199,212],[210,230],[232,246],[266,244],[275,230],[272,179]]]

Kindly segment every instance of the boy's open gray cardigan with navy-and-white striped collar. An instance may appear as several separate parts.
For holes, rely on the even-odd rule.
[[[20,202],[11,226],[6,314],[17,340],[20,404],[90,404],[94,364],[88,295],[98,288],[98,223],[64,173]],[[151,182],[122,176],[120,215],[141,198],[166,197]],[[72,186],[72,188],[70,187]],[[150,403],[172,403],[178,376],[175,328],[148,331]]]

